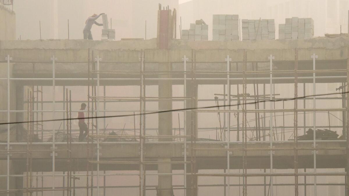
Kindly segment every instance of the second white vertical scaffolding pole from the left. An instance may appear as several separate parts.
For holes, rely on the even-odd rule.
[[[52,55],[52,119],[55,119],[55,61],[57,60],[57,58],[55,58],[54,55]],[[53,126],[52,126],[52,196],[54,196],[54,170],[55,170],[55,165],[54,165],[54,156],[55,156],[55,145],[54,145],[54,140],[55,140],[55,121],[52,122]]]

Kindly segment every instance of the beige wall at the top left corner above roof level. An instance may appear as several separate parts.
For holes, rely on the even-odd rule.
[[[16,14],[0,4],[0,40],[16,39]]]

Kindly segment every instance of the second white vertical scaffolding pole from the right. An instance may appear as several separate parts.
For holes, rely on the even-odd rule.
[[[273,109],[273,104],[272,104],[272,100],[273,100],[273,55],[270,54],[269,58],[270,60],[270,87],[269,87],[269,100],[270,100],[270,114],[269,114],[269,142],[270,142],[270,196],[273,196],[273,112],[271,111]]]

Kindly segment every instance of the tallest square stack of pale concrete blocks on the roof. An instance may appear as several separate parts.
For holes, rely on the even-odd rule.
[[[213,39],[216,41],[239,40],[239,15],[213,15]]]

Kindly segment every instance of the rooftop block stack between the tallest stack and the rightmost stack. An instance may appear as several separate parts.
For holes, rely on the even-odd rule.
[[[242,21],[242,39],[243,40],[264,40],[275,39],[275,22],[269,20],[247,20]]]

